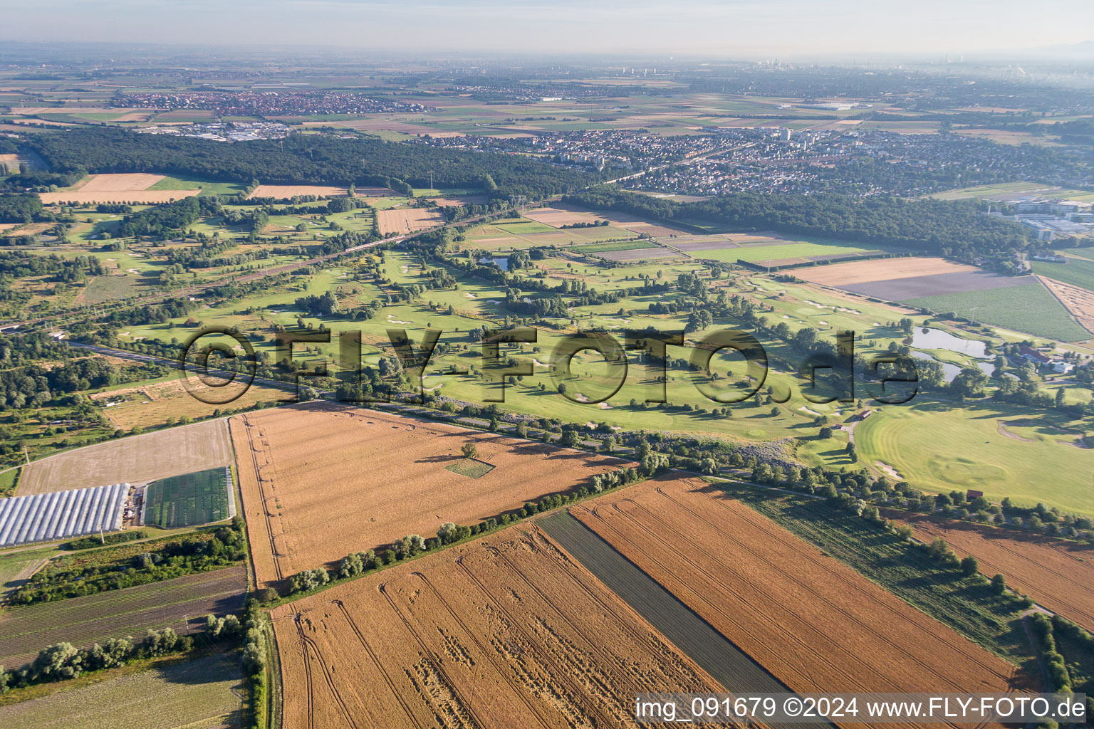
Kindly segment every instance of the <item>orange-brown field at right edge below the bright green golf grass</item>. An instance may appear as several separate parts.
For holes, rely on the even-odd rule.
[[[916,530],[917,539],[946,540],[959,556],[975,556],[985,575],[1002,574],[1038,604],[1094,631],[1094,548],[922,515],[895,516]]]

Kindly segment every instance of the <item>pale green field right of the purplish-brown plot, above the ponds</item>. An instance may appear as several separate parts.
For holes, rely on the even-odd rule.
[[[921,306],[939,314],[953,311],[984,324],[1061,342],[1078,342],[1091,338],[1091,332],[1079,326],[1063,305],[1039,283],[923,296],[900,303]]]

